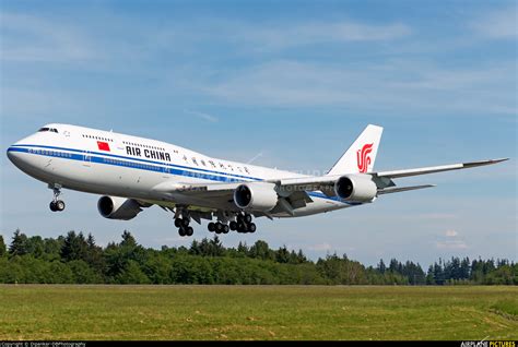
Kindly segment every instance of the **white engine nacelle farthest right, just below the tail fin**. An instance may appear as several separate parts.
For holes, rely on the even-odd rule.
[[[350,202],[372,202],[377,192],[378,188],[368,175],[342,176],[334,183],[334,193]]]

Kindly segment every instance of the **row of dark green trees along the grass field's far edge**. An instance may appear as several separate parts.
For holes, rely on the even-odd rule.
[[[302,250],[270,249],[266,241],[225,248],[217,236],[189,248],[144,248],[129,231],[105,248],[89,234],[27,237],[16,230],[9,246],[0,235],[3,284],[200,284],[200,285],[518,285],[508,260],[439,259],[424,272],[419,263],[376,266],[328,254],[316,262]]]

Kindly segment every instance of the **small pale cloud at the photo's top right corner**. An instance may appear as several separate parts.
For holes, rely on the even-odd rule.
[[[514,39],[518,36],[518,8],[493,11],[480,16],[471,26],[483,37],[496,39]]]

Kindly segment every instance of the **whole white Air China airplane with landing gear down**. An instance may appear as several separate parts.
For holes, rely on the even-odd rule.
[[[255,232],[254,217],[301,217],[364,205],[379,195],[435,187],[397,187],[395,179],[459,170],[493,159],[396,171],[373,171],[382,128],[368,125],[327,175],[306,176],[212,158],[161,141],[69,124],[47,124],[8,148],[9,159],[54,191],[50,210],[64,210],[61,189],[101,194],[110,219],[134,218],[158,205],[180,236],[208,219],[216,234]],[[212,222],[216,219],[216,223]]]

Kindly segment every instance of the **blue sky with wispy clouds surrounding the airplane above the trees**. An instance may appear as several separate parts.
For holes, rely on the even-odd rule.
[[[367,123],[385,127],[376,168],[510,157],[400,180],[432,190],[302,219],[259,220],[224,243],[427,265],[517,260],[517,5],[514,1],[2,1],[1,145],[47,122],[114,129],[216,157],[328,169]],[[97,196],[51,192],[1,156],[0,234],[123,229],[187,246],[152,207],[102,218]],[[198,227],[196,238],[210,236]]]

